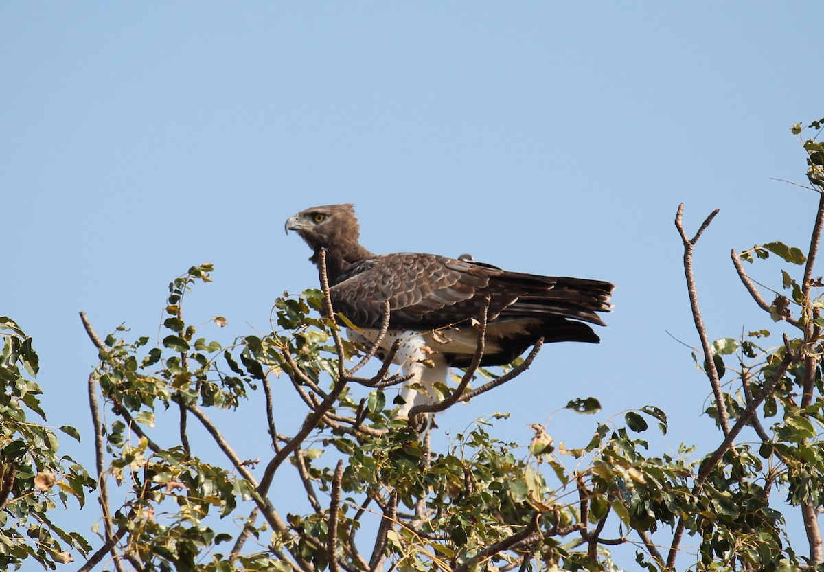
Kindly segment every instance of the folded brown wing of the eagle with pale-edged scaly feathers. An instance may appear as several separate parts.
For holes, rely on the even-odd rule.
[[[439,328],[480,316],[489,321],[564,318],[603,322],[612,285],[597,280],[508,272],[492,265],[429,254],[374,256],[330,289],[335,310],[356,326],[381,325],[386,300],[390,327]],[[582,325],[583,326],[583,325]],[[589,329],[588,329],[589,330]],[[590,330],[591,331],[591,330]],[[597,340],[597,337],[595,338]]]

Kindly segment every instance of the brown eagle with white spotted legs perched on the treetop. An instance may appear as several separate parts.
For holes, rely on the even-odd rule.
[[[605,326],[598,312],[611,308],[614,286],[602,280],[511,272],[469,255],[373,254],[358,241],[352,204],[303,210],[287,219],[285,229],[306,241],[313,251],[309,260],[319,267],[325,251],[332,307],[357,326],[349,329],[350,340],[374,343],[388,302],[382,349],[401,340],[393,361],[415,387],[401,393],[399,418],[433,402],[433,384],[446,383],[449,368],[470,366],[484,309],[481,366],[512,363],[539,340],[597,344],[590,324]]]

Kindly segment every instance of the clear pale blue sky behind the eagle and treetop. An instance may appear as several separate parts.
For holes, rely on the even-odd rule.
[[[96,352],[77,312],[101,334],[157,335],[166,284],[209,260],[190,321],[227,316],[204,328],[224,342],[265,331],[277,295],[316,285],[284,220],[351,202],[372,251],[617,285],[602,345],[545,348],[442,429],[508,410],[496,431],[527,442],[527,424],[592,395],[602,415],[555,415],[556,440],[652,404],[672,420],[661,448],[709,450],[709,385],[667,335],[698,345],[672,218],[684,202],[694,231],[721,209],[696,251],[710,335],[775,329],[728,256],[808,242],[816,197],[772,179],[804,181],[789,127],[824,115],[822,16],[819,2],[5,2],[0,314],[34,336],[49,423],[82,430],[82,448],[65,444],[91,469]],[[755,272],[780,286],[776,267]]]

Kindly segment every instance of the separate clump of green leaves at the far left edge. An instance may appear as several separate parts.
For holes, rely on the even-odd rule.
[[[55,526],[49,511],[74,497],[82,507],[96,483],[71,457],[58,455],[52,429],[40,408],[40,386],[33,381],[39,361],[31,338],[8,317],[0,317],[0,568],[32,559],[47,568],[71,562],[70,550],[87,554],[91,546],[77,532]],[[77,429],[60,428],[79,440]]]

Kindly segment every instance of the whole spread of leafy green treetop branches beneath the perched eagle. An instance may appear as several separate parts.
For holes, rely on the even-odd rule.
[[[803,133],[800,125],[794,133]],[[824,300],[822,279],[812,274],[824,227],[824,147],[812,138],[802,143],[808,180],[820,195],[812,246],[770,241],[732,253],[769,326],[709,339],[692,255],[715,213],[689,238],[678,211],[701,339],[693,358],[708,378],[706,412],[719,429],[713,450],[651,450],[646,433],[670,428],[664,411],[644,403],[594,423],[579,443],[556,444],[540,424],[532,425],[527,446],[505,443],[494,436],[503,415],[493,415],[433,450],[411,420],[396,417],[389,391],[407,380],[391,374],[391,356],[379,363],[377,347],[342,338],[323,290],[278,298],[270,332],[227,345],[209,340],[183,312],[190,288],[210,281],[213,267],[204,264],[170,284],[157,347],[148,337],[125,339],[125,328],[99,340],[87,324],[100,357],[90,400],[104,542],[81,570],[109,558],[119,570],[617,570],[611,551],[621,545],[646,570],[675,570],[678,558],[702,571],[824,569],[817,524],[824,505]],[[768,302],[742,261],[773,255],[789,269],[781,270],[780,292]],[[213,323],[226,321],[217,316]],[[49,527],[49,498],[26,490],[36,486],[38,471],[51,471],[63,475],[62,498],[75,495],[82,503],[82,487],[91,481],[79,467],[67,469],[70,460],[54,457],[47,429],[22,422],[23,408],[39,410],[36,386],[16,364],[34,375],[36,359],[30,340],[12,321],[5,324],[13,334],[4,354],[4,419],[19,423],[3,426],[12,431],[4,433],[4,474],[16,467],[14,486],[28,486],[13,492],[14,517],[21,525],[35,518],[27,534],[40,536],[29,545],[8,541],[21,537],[7,527],[9,504],[0,550],[48,565],[62,548],[48,531],[81,551],[88,546]],[[479,385],[438,387],[438,405],[494,391],[522,374],[538,349],[501,374],[470,368],[463,378],[478,373]],[[362,371],[371,377],[360,377]],[[284,434],[276,429],[277,411],[289,387],[305,416]],[[591,414],[601,404],[582,396],[566,408]],[[260,420],[268,434],[262,460],[241,457],[246,443],[232,443],[231,422],[216,421],[240,416]],[[295,510],[298,501],[302,509]],[[807,556],[798,556],[784,532],[789,518],[804,524]],[[21,546],[32,550],[23,554]]]

